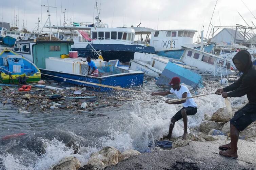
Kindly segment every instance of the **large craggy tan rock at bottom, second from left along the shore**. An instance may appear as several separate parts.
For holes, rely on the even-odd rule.
[[[118,163],[118,157],[121,154],[114,147],[104,147],[99,152],[95,152],[88,160],[88,164],[95,166],[98,169],[103,169],[106,166],[114,166]]]

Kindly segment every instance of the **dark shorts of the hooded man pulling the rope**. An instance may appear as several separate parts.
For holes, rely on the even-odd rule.
[[[230,119],[230,123],[233,124],[239,131],[242,131],[255,120],[256,104],[248,103],[235,113],[234,117]]]

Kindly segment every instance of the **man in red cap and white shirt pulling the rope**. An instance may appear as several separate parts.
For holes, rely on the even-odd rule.
[[[179,77],[173,77],[171,82],[169,83],[172,88],[169,91],[164,91],[164,92],[155,92],[151,93],[152,96],[159,95],[159,96],[166,96],[169,94],[176,94],[176,96],[181,99],[181,98],[186,98],[186,97],[192,97],[189,89],[186,86],[180,85],[180,78]],[[182,139],[185,140],[188,136],[188,117],[187,115],[195,115],[197,113],[197,104],[195,103],[195,100],[192,99],[186,99],[182,101],[177,101],[177,102],[169,102],[169,100],[165,101],[168,104],[182,104],[183,108],[178,111],[171,119],[171,124],[169,127],[169,133],[166,136],[163,136],[163,139],[171,139],[172,138],[172,131],[174,128],[175,122],[180,120],[181,118],[183,119],[184,123],[184,133],[182,136]]]

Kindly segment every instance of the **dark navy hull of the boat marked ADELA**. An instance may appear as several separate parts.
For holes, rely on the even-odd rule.
[[[123,45],[123,44],[91,44],[97,51],[101,51],[102,57],[105,61],[119,59],[120,62],[129,62],[133,59],[134,52],[155,53],[155,48],[151,46],[142,45]],[[98,58],[94,53],[93,48],[88,44],[85,48],[72,48],[78,51],[79,57],[91,56]]]

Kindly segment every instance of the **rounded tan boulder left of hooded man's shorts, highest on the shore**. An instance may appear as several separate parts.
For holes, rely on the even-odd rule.
[[[219,108],[213,113],[211,120],[215,122],[228,122],[233,117],[232,112],[229,112],[227,108]]]

